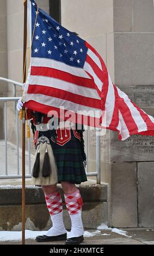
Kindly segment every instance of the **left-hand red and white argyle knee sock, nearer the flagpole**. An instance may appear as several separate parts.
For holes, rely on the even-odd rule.
[[[52,228],[47,231],[46,235],[57,236],[65,234],[66,229],[63,222],[63,205],[59,191],[45,194],[45,199],[52,220]]]

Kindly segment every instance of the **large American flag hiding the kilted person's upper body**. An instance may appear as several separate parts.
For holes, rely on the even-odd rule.
[[[33,0],[28,0],[28,22],[33,40],[25,107],[48,114],[59,113],[63,106],[83,124],[91,125],[94,118],[95,127],[118,131],[121,140],[154,135],[154,118],[112,83],[103,59],[88,42],[38,9]]]

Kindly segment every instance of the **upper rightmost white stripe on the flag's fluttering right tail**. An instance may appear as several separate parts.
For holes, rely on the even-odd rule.
[[[138,127],[138,132],[147,130],[147,125],[146,125],[145,121],[143,120],[143,118],[141,117],[140,112],[138,111],[138,109],[136,107],[134,107],[131,100],[129,99],[129,97],[124,92],[122,92],[118,87],[116,87],[116,88],[118,90],[119,96],[122,99],[124,99],[127,107],[130,109],[130,112],[132,114],[132,118],[134,119],[134,122]]]

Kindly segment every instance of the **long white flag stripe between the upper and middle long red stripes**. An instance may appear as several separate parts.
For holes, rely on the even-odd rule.
[[[69,83],[66,81],[61,81],[53,77],[31,75],[29,84],[36,84],[38,86],[57,88],[57,89],[65,90],[66,92],[100,100],[100,96],[98,95],[96,89],[77,86],[76,84]]]

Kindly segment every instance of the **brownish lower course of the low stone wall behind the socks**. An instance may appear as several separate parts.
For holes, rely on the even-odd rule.
[[[71,228],[69,214],[63,205],[63,216],[66,229]],[[97,228],[103,222],[108,221],[107,202],[84,203],[82,219],[84,228]],[[20,231],[22,227],[21,205],[0,206],[0,230]],[[26,205],[26,229],[48,230],[52,227],[50,215],[45,204]]]

